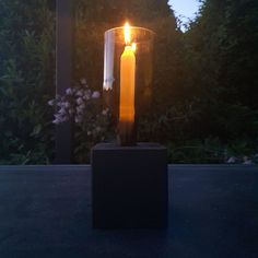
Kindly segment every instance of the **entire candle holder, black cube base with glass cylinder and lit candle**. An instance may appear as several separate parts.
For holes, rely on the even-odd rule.
[[[105,33],[103,95],[117,125],[116,143],[92,149],[92,219],[95,228],[167,226],[166,148],[137,143],[138,118],[152,97],[154,33],[116,27]]]

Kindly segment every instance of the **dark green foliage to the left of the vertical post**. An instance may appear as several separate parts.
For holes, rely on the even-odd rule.
[[[54,17],[47,2],[0,1],[0,163],[48,163]]]

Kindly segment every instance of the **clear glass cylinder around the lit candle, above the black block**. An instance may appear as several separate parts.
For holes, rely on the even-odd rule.
[[[137,120],[151,103],[153,44],[148,28],[126,24],[105,32],[103,96],[120,145],[136,144]]]

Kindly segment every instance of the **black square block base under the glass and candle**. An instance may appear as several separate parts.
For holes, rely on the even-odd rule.
[[[166,227],[166,153],[156,143],[99,143],[92,149],[94,227]]]

